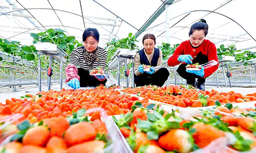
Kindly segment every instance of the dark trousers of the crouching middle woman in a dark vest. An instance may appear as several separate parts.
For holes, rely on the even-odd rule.
[[[169,71],[166,68],[160,68],[158,71],[156,71],[153,74],[148,74],[146,72],[135,75],[134,74],[134,82],[136,86],[145,86],[145,85],[156,85],[156,86],[163,86],[165,81],[169,77]]]

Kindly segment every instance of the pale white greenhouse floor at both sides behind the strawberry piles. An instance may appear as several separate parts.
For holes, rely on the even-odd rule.
[[[66,84],[63,84],[62,86],[63,88],[67,89],[68,86],[66,86]],[[47,91],[48,88],[46,85],[42,85],[41,87],[42,91]],[[59,84],[53,84],[51,86],[51,89],[53,90],[60,90],[59,89]],[[206,90],[217,90],[219,92],[228,92],[228,91],[234,91],[234,92],[239,92],[241,94],[247,94],[247,93],[254,93],[256,92],[256,88],[240,88],[240,87],[233,87],[233,88],[225,88],[225,87],[220,87],[220,88],[216,88],[213,86],[206,86]],[[12,91],[12,88],[1,88],[0,89],[0,102],[1,103],[5,103],[6,99],[10,99],[12,97],[20,97],[20,96],[24,96],[26,94],[36,94],[38,92],[38,86],[36,85],[28,85],[28,86],[22,86],[21,88],[17,88],[16,92]]]

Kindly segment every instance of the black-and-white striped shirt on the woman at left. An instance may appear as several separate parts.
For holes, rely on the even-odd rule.
[[[86,50],[83,46],[79,46],[75,48],[71,54],[69,59],[69,64],[74,64],[76,67],[83,68],[84,70],[91,70],[96,69],[98,66],[101,66],[101,68],[106,67],[106,50],[101,47],[97,47],[98,49],[98,56],[96,60],[92,63],[92,67],[88,65],[84,60],[84,54]]]

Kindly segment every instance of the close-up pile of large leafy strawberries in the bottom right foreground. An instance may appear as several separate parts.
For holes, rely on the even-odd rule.
[[[256,137],[251,133],[256,124],[253,118],[237,120],[237,126],[230,126],[231,120],[227,123],[226,116],[217,112],[203,111],[202,115],[183,119],[151,105],[143,108],[136,104],[133,109],[119,120],[113,119],[134,152],[248,151],[256,146]]]

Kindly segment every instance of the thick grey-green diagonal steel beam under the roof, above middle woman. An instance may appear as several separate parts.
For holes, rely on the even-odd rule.
[[[141,33],[143,33],[148,26],[150,26],[151,23],[153,23],[159,15],[163,13],[165,10],[165,5],[170,5],[174,2],[174,0],[167,0],[165,3],[163,3],[157,10],[154,12],[154,14],[142,25],[142,27],[139,29],[139,31],[135,34],[135,37],[138,38]]]

